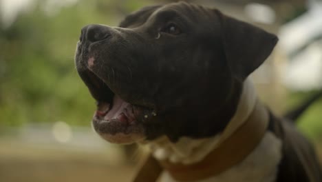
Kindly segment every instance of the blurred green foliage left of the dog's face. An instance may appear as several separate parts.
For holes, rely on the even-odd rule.
[[[96,106],[74,68],[81,28],[89,23],[117,26],[125,13],[143,6],[78,1],[46,12],[45,2],[21,12],[9,28],[0,26],[0,127],[54,121],[89,125]]]

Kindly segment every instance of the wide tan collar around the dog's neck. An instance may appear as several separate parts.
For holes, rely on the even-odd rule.
[[[196,181],[215,176],[243,161],[263,138],[268,125],[268,112],[258,101],[253,112],[230,136],[214,148],[202,161],[184,165],[149,156],[134,182],[155,181],[162,168],[177,181]],[[162,168],[160,168],[160,165]]]

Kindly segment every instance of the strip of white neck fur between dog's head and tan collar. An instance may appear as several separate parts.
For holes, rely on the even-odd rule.
[[[204,139],[181,137],[177,143],[172,143],[167,136],[162,136],[149,143],[153,156],[158,160],[169,160],[172,163],[191,164],[201,161],[248,119],[256,101],[255,88],[251,81],[246,79],[237,110],[221,134]]]

